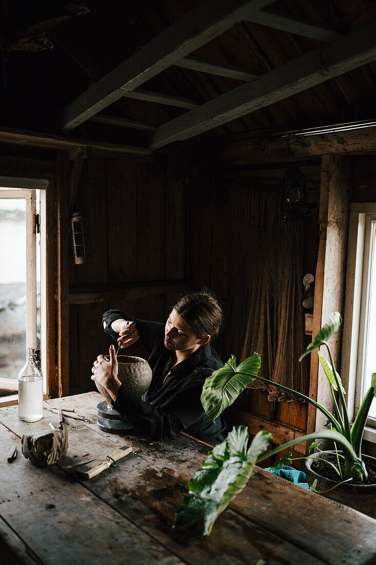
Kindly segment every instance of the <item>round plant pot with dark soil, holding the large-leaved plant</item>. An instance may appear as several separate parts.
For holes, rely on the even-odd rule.
[[[310,457],[320,459],[327,453],[335,453],[335,451],[313,453]],[[341,451],[338,451],[338,453],[341,453]],[[369,455],[362,455],[362,460],[366,463],[366,466],[372,465],[376,467],[376,458],[370,457]],[[305,475],[307,475],[307,482],[310,486],[314,479],[317,479],[317,490],[327,490],[337,484],[335,481],[325,479],[325,477],[322,477],[312,471],[312,463],[313,459],[306,459],[303,469]],[[337,486],[329,493],[323,493],[322,496],[330,498],[336,502],[340,502],[341,504],[349,506],[359,512],[363,512],[363,514],[367,514],[368,516],[371,516],[371,518],[376,518],[376,484],[352,485],[351,483],[345,483]]]

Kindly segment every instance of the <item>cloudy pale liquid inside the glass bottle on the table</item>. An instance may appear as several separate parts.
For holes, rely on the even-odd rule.
[[[19,379],[18,417],[25,422],[43,418],[43,377],[30,375]]]

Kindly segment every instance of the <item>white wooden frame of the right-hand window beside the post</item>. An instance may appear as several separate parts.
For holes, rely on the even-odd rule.
[[[361,377],[368,299],[370,253],[368,224],[370,226],[372,216],[376,219],[376,202],[350,205],[341,375],[344,388],[347,390],[347,406],[351,420],[354,419],[360,405],[364,386]],[[375,419],[368,419],[364,438],[376,442]]]

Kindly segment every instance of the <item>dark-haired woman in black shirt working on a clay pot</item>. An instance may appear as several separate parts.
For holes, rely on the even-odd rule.
[[[223,365],[210,343],[221,322],[222,308],[205,290],[181,298],[165,325],[109,310],[103,315],[104,329],[121,348],[134,345],[147,351],[151,384],[141,399],[120,383],[113,345],[110,362],[99,355],[91,379],[108,390],[113,408],[143,435],[162,440],[184,430],[216,445],[223,441],[225,425],[220,418],[215,423],[208,418],[200,397],[205,379]]]

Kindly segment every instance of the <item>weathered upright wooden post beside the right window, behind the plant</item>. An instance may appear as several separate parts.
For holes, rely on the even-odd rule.
[[[313,307],[312,338],[320,331],[333,311],[343,312],[346,274],[349,197],[351,189],[349,159],[342,155],[323,155],[320,189],[320,244],[318,248]],[[336,368],[340,362],[338,331],[330,340]],[[325,350],[322,353],[327,357]],[[333,410],[333,399],[325,373],[318,363],[317,353],[311,357],[309,396]],[[309,405],[307,433],[321,429],[325,416]]]

